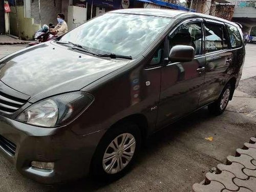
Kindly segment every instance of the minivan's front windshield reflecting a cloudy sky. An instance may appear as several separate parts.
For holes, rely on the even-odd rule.
[[[106,13],[75,28],[59,42],[79,44],[87,50],[136,57],[172,21],[172,18]]]

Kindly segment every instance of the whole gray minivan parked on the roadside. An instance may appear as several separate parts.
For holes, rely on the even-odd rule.
[[[141,143],[237,88],[239,25],[163,9],[106,13],[0,60],[0,152],[24,176],[118,177]]]

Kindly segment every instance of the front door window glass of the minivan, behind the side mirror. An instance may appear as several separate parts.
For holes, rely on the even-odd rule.
[[[176,45],[192,46],[195,55],[202,53],[202,25],[201,23],[181,25],[169,35],[169,48]]]

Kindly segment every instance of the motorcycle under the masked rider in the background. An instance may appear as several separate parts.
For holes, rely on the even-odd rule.
[[[50,24],[50,28],[54,28],[54,26]],[[34,36],[34,38],[35,38],[35,40],[37,40],[37,42],[30,42],[28,44],[28,47],[40,44],[40,42],[46,42],[46,41],[49,41],[49,40],[52,40],[52,39],[56,38],[57,35],[52,34],[50,32],[50,28],[48,27],[48,25],[42,26],[42,28],[39,29],[35,33],[35,36]]]

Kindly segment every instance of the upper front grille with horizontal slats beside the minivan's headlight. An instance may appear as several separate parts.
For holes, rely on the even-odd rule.
[[[11,114],[17,111],[27,102],[20,98],[16,98],[0,92],[0,111],[3,113]]]

